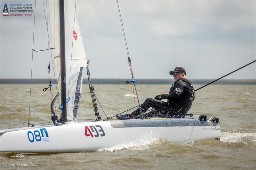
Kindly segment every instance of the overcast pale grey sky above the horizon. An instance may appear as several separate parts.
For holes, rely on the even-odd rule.
[[[256,60],[255,0],[118,2],[135,79],[172,79],[169,71],[177,66],[188,79],[217,79]],[[9,10],[32,4],[33,16],[1,14],[0,78],[30,78],[35,1],[1,0],[0,10],[4,4]],[[91,78],[130,80],[116,1],[76,4]],[[43,1],[37,0],[34,49],[48,48],[47,41]],[[32,78],[48,78],[48,64],[48,51],[34,53]],[[256,79],[256,63],[227,79]]]

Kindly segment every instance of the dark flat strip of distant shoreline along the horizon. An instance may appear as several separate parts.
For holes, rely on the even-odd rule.
[[[192,79],[194,85],[208,84],[214,79]],[[125,84],[128,79],[92,79],[92,84]],[[32,79],[32,84],[48,84],[48,79]],[[52,84],[54,79],[52,80]],[[57,83],[57,80],[56,80]],[[88,83],[88,79],[83,79],[83,83]],[[138,85],[165,85],[172,84],[173,81],[170,79],[137,79],[136,84]],[[0,79],[0,84],[30,84],[30,79]],[[213,85],[256,85],[255,79],[223,79],[213,83]]]

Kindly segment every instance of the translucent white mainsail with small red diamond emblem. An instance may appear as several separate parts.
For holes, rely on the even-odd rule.
[[[50,6],[52,41],[55,42],[55,66],[58,78],[59,92],[61,92],[61,81],[66,83],[67,98],[67,119],[76,120],[80,104],[83,70],[87,66],[84,51],[84,43],[75,12],[75,1],[64,1],[65,15],[65,53],[66,53],[66,76],[63,80],[60,77],[60,21],[59,1],[48,1]],[[61,93],[60,93],[61,98]]]

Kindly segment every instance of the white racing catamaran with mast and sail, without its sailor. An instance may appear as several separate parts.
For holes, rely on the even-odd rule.
[[[0,152],[88,152],[129,144],[143,139],[164,139],[172,143],[220,138],[219,122],[186,118],[102,119],[99,116],[89,61],[76,16],[76,1],[49,1],[51,29],[55,40],[55,65],[59,93],[51,103],[52,125],[0,130]],[[54,42],[54,41],[53,41]],[[128,56],[129,59],[129,56]],[[77,122],[83,71],[87,68],[95,116],[92,122]],[[135,83],[132,77],[131,83]],[[60,119],[54,108],[60,96]]]

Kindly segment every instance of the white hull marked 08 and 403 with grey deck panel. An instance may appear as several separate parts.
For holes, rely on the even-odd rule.
[[[0,131],[0,152],[88,152],[143,140],[185,143],[220,138],[220,126],[193,118],[68,123]]]

